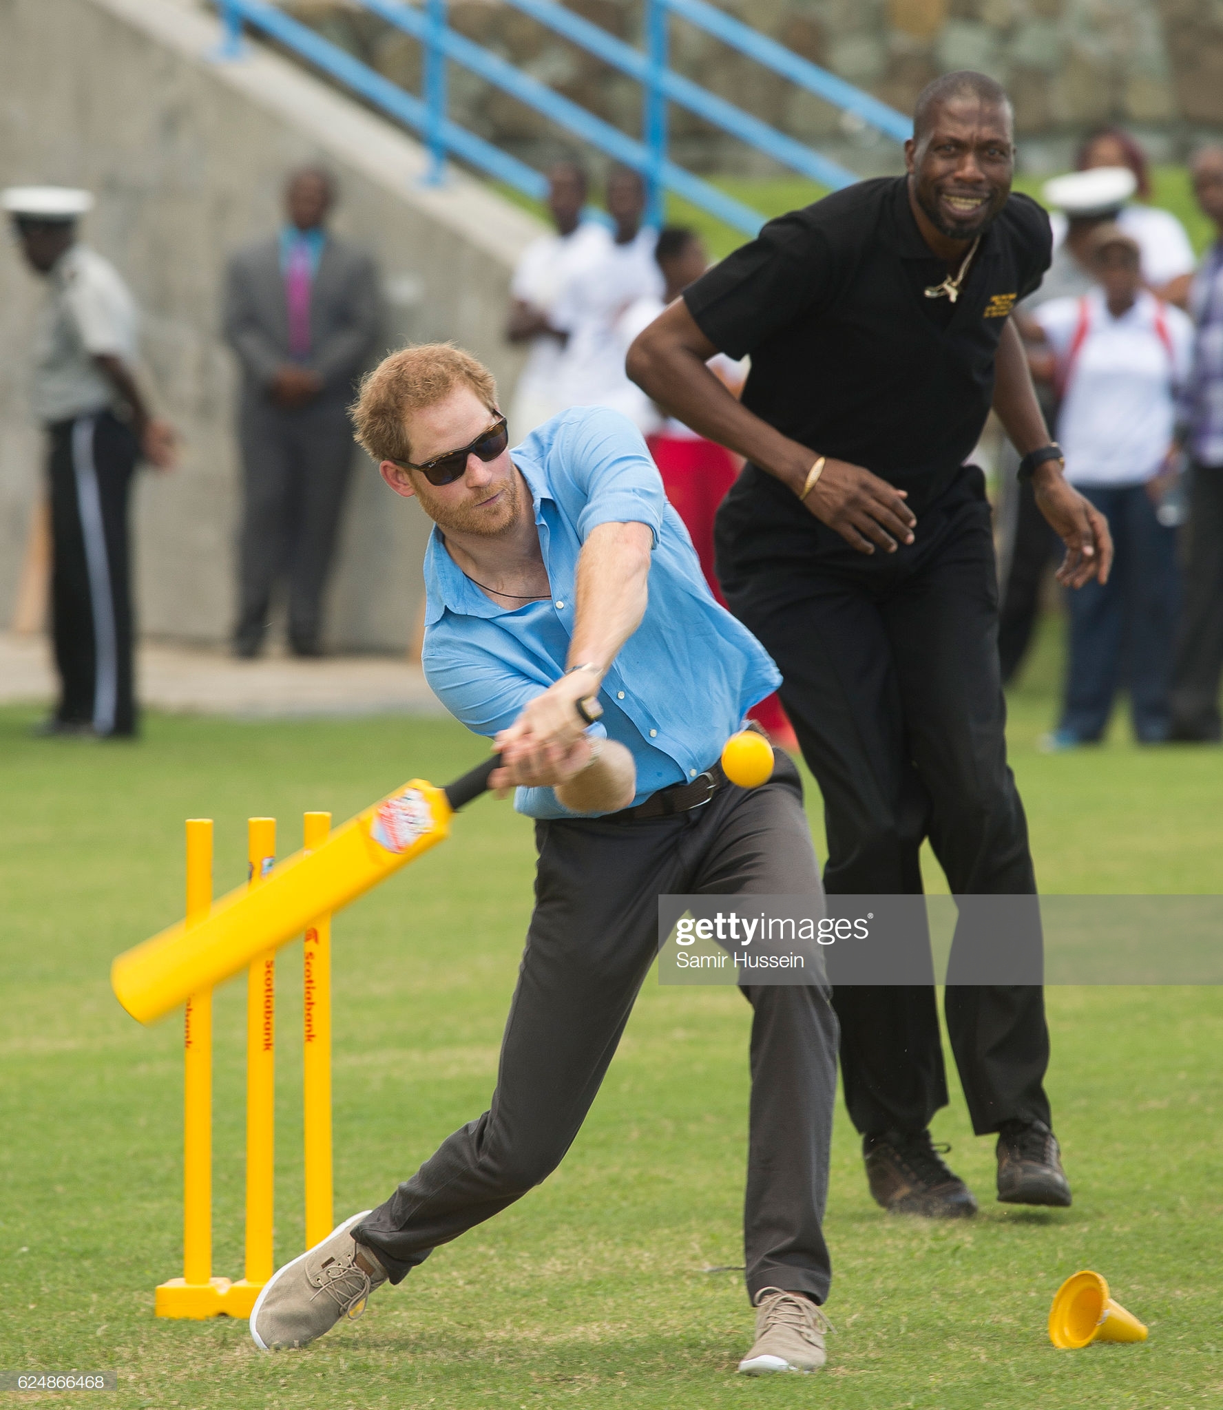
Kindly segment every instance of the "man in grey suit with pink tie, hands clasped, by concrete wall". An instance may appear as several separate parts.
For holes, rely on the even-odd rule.
[[[272,587],[289,584],[289,646],[319,654],[320,603],[353,462],[347,403],[375,350],[374,261],[329,234],[327,172],[295,172],[288,223],[230,261],[224,333],[243,364],[244,495],[234,654],[258,656]]]

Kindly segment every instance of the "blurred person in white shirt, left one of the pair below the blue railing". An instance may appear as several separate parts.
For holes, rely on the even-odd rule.
[[[568,334],[553,324],[553,310],[574,271],[597,259],[611,235],[594,220],[583,220],[585,172],[577,162],[556,162],[547,173],[547,209],[554,235],[532,241],[509,285],[512,303],[506,338],[530,344],[509,407],[509,431],[518,441],[564,410],[560,368]]]

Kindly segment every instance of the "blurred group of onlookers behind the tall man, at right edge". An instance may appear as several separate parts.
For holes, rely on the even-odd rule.
[[[1014,316],[1066,478],[1116,544],[1109,581],[1066,595],[1061,711],[1042,742],[1055,752],[1100,740],[1121,689],[1141,743],[1220,737],[1223,149],[1200,149],[1191,176],[1220,234],[1200,266],[1176,216],[1151,203],[1145,155],[1124,131],[1093,134],[1076,171],[1042,192],[1052,265]],[[1017,461],[1004,457],[999,478],[1004,681],[1061,551]]]

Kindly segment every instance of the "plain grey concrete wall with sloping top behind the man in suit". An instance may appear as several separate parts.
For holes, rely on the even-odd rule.
[[[135,498],[140,623],[220,642],[234,611],[236,372],[219,337],[227,254],[272,231],[288,168],[322,159],[341,180],[337,233],[371,247],[392,309],[389,345],[454,338],[504,392],[509,272],[539,227],[467,178],[419,186],[425,157],[398,128],[251,45],[212,58],[216,21],[190,0],[0,0],[0,185],[87,186],[85,238],[113,259],[144,319],[144,376],[185,437],[183,464],[142,472]],[[0,250],[0,626],[10,620],[41,485],[27,409],[38,282]],[[422,596],[420,510],[358,457],[327,636],[402,650]]]

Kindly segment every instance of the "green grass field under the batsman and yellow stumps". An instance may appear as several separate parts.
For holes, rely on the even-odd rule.
[[[1011,701],[1013,761],[1051,891],[1223,890],[1223,753],[1140,750],[1119,726],[1047,757],[1054,644]],[[972,1224],[887,1218],[838,1114],[827,1230],[838,1327],[820,1376],[734,1375],[752,1325],[736,1273],[748,1008],[647,981],[560,1172],[440,1249],[367,1316],[275,1358],[244,1323],[166,1323],[181,1272],[181,1031],[141,1029],[111,956],[181,914],[182,819],[217,822],[217,890],[244,819],[344,818],[482,746],[409,719],[243,723],[154,716],[135,746],[35,742],[0,711],[0,1369],[114,1369],[120,1407],[1185,1407],[1223,1403],[1219,1049],[1213,990],[1051,990],[1068,1211],[992,1203],[993,1144],[956,1091],[935,1122],[982,1197]],[[814,815],[813,797],[813,815]],[[818,819],[817,819],[818,822]],[[817,832],[820,832],[817,826]],[[336,924],[337,1214],[374,1204],[484,1110],[530,900],[532,845],[481,799],[453,839]],[[931,878],[934,884],[934,878]],[[1158,938],[1152,938],[1158,940]],[[278,1258],[302,1244],[300,949],[282,952]],[[217,995],[216,1272],[240,1276],[243,991]],[[1058,1352],[1049,1299],[1095,1268],[1151,1327]],[[13,1403],[86,1406],[90,1394]]]

